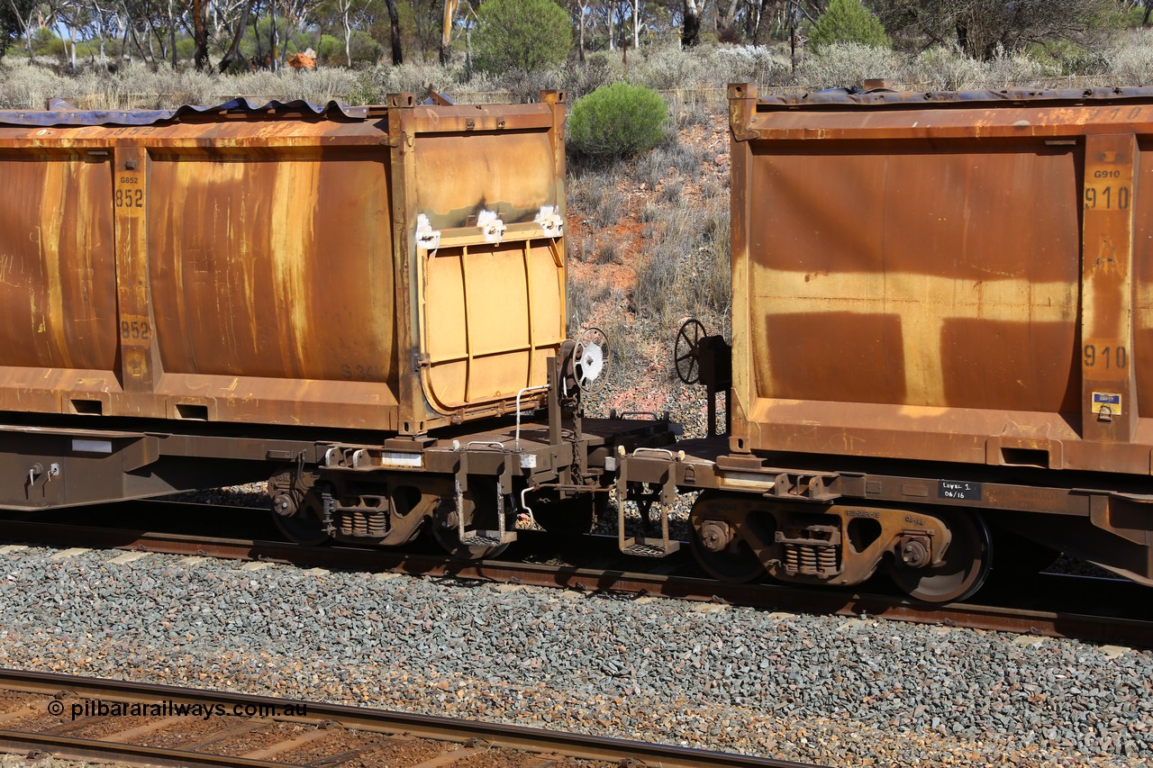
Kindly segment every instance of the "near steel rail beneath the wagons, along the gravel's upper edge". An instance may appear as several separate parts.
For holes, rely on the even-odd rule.
[[[1072,638],[1132,647],[1153,647],[1153,622],[1090,612],[1028,610],[997,605],[950,603],[929,605],[907,598],[834,588],[789,585],[732,585],[711,579],[544,565],[505,560],[458,560],[361,547],[303,547],[287,542],[187,536],[146,530],[44,522],[0,521],[0,539],[60,547],[126,549],[168,555],[250,559],[329,570],[395,572],[453,577],[493,582],[562,587],[590,593],[653,595],[677,600],[728,603],[819,615],[868,616],[917,624],[943,624],[975,630]],[[1057,577],[1060,578],[1060,577]],[[1122,586],[1128,587],[1128,585]],[[1063,594],[1063,590],[1062,590]]]

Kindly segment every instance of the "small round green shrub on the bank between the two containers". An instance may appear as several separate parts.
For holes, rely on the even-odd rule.
[[[576,99],[568,116],[568,138],[589,157],[628,157],[656,146],[668,122],[669,107],[660,93],[613,83]]]

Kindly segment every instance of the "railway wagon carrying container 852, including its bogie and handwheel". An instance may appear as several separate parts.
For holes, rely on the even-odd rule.
[[[271,476],[301,540],[484,507],[484,554],[513,485],[591,482],[564,96],[435,101],[0,113],[0,506]]]

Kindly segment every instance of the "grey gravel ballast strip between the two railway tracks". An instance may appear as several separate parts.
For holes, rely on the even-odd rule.
[[[1153,760],[1148,652],[203,558],[112,563],[118,556],[0,548],[0,665],[828,765]]]

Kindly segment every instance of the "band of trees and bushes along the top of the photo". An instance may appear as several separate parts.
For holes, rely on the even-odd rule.
[[[576,39],[582,62],[619,59],[625,70],[678,39],[701,61],[714,42],[766,57],[787,43],[796,69],[806,33],[817,47],[827,38],[883,45],[880,20],[905,53],[940,47],[986,61],[1027,53],[1082,73],[1100,69],[1113,47],[1105,38],[1126,15],[1137,25],[1150,13],[1153,0],[0,0],[0,52],[108,69],[206,59],[239,73],[284,66],[310,47],[322,65],[353,68],[390,54],[399,61],[405,50],[408,59],[472,61],[526,81],[563,61]]]

